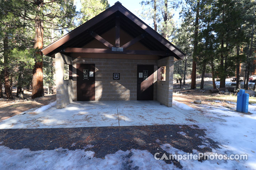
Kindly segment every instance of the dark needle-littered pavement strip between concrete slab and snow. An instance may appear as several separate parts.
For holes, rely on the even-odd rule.
[[[181,131],[187,135],[177,133]],[[130,149],[147,150],[153,155],[159,152],[159,157],[164,153],[169,155],[160,147],[165,143],[185,153],[193,153],[193,149],[198,152],[211,152],[211,148],[219,148],[218,143],[205,138],[205,135],[205,130],[199,129],[197,125],[4,129],[0,130],[0,142],[11,149],[28,148],[31,151],[53,150],[60,147],[69,150],[85,149],[94,151],[94,157],[104,159],[107,154]],[[198,147],[203,143],[207,143],[209,147]],[[93,147],[86,148],[87,145]],[[182,168],[176,160],[165,162]]]

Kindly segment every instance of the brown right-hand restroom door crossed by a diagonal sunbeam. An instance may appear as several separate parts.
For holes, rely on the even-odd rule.
[[[154,65],[137,66],[137,100],[153,100]]]

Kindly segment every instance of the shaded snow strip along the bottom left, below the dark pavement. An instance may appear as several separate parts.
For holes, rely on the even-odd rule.
[[[108,154],[105,159],[95,158],[94,152],[58,148],[56,150],[30,151],[0,146],[0,167],[14,169],[176,169],[173,164],[154,159],[148,151],[131,149]]]

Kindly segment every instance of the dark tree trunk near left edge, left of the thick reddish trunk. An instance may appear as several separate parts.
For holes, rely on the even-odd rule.
[[[9,72],[8,72],[8,36],[6,33],[5,38],[3,40],[4,43],[4,80],[5,80],[5,92],[6,92],[6,98],[7,99],[12,99],[12,91],[10,87],[10,80],[9,80]]]

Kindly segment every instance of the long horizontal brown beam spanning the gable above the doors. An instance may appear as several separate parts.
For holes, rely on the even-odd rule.
[[[156,56],[170,56],[169,51],[150,51],[150,50],[124,50],[112,51],[110,49],[90,49],[90,48],[65,48],[64,52],[73,53],[109,53],[109,54],[134,54],[134,55],[156,55]]]

